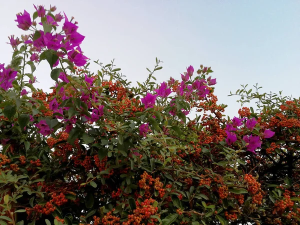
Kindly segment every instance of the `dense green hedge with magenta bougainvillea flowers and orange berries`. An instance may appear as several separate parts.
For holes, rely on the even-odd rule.
[[[242,86],[258,112],[226,118],[210,67],[156,83],[157,58],[130,86],[114,61],[88,69],[73,17],[34,8],[0,64],[1,225],[299,223],[299,99]]]

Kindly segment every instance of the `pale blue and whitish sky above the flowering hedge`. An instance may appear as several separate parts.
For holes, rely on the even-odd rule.
[[[146,67],[153,68],[158,57],[158,82],[179,79],[189,65],[211,66],[218,102],[228,105],[230,117],[240,103],[227,95],[240,84],[300,95],[298,0],[0,0],[0,63],[11,60],[7,36],[26,33],[17,28],[15,14],[25,9],[32,15],[33,4],[52,4],[74,16],[85,36],[84,55],[103,63],[114,58],[133,85],[145,80]],[[98,67],[91,62],[90,69]],[[44,91],[53,83],[49,74],[46,61],[34,74]]]

